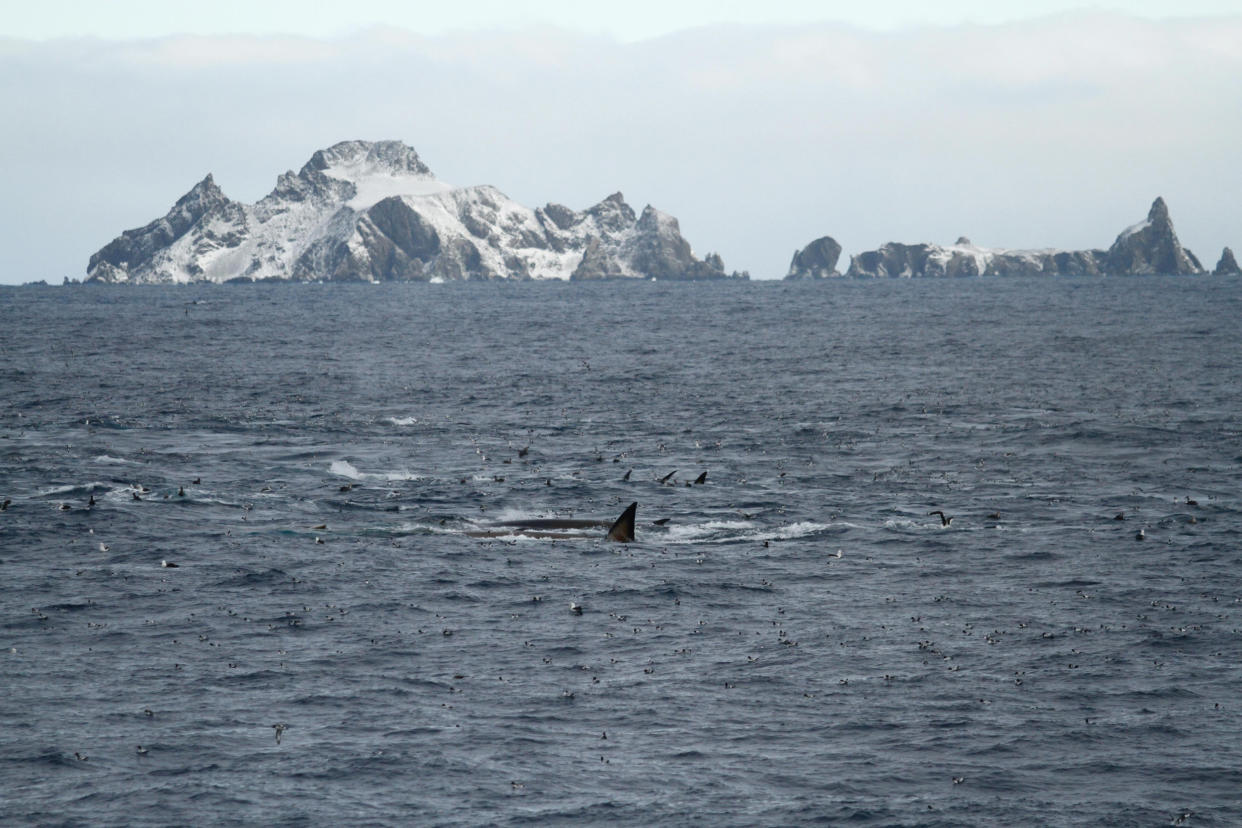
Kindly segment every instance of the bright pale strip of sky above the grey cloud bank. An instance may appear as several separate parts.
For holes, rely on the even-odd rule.
[[[1150,19],[1237,14],[1242,0],[42,0],[5,2],[11,37],[287,34],[333,37],[371,25],[424,35],[553,24],[637,40],[710,24],[847,22],[868,29],[999,24],[1093,9]]]

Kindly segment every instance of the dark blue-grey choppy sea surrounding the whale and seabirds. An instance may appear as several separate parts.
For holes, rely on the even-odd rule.
[[[1240,824],[1240,319],[2,289],[0,822]],[[630,545],[462,534],[631,502]]]

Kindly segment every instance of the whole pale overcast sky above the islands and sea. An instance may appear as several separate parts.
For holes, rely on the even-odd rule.
[[[529,206],[621,190],[755,278],[823,235],[1108,247],[1158,195],[1242,251],[1242,0],[0,4],[0,283],[358,138]]]

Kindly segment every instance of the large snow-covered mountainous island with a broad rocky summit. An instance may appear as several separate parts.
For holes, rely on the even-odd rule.
[[[342,142],[248,205],[209,174],[163,218],[127,230],[87,282],[724,279],[677,218],[614,194],[581,212],[532,210],[493,186],[453,187],[400,142]]]

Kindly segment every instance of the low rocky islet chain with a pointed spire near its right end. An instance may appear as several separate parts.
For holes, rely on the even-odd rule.
[[[794,253],[786,279],[840,277],[836,269],[841,245],[832,237],[817,238]],[[1226,248],[1217,273],[1228,273],[1232,253]],[[1232,264],[1236,268],[1236,263]],[[902,245],[850,257],[846,277],[944,278],[963,276],[1139,276],[1205,273],[1203,266],[1177,241],[1169,207],[1158,197],[1145,221],[1122,231],[1105,250],[1005,250],[979,247],[969,238],[953,245]]]

